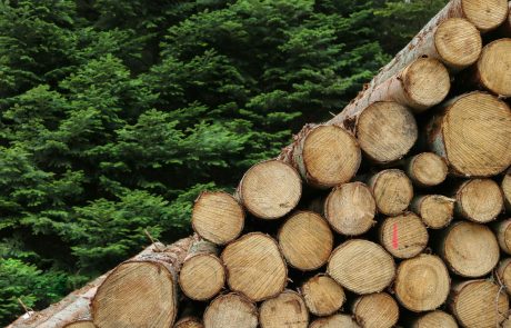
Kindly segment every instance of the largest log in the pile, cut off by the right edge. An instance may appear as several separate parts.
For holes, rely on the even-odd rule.
[[[443,105],[428,127],[431,149],[453,173],[489,177],[511,165],[511,110],[491,95],[475,91]]]

